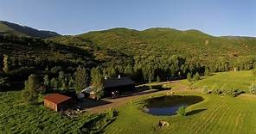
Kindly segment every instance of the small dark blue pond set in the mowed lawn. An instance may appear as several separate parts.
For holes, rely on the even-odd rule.
[[[143,110],[151,115],[175,115],[179,107],[189,106],[203,101],[195,95],[172,95],[151,98],[146,101]]]

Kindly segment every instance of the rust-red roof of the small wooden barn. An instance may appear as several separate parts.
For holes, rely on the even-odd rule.
[[[44,97],[45,100],[51,101],[55,104],[59,104],[63,101],[67,101],[71,99],[71,97],[68,97],[66,95],[62,94],[48,94],[47,96]]]

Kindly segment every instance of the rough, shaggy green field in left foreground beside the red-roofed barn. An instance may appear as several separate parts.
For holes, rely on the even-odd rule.
[[[42,104],[26,105],[21,100],[21,91],[0,93],[0,133],[85,133],[107,125],[109,114],[81,113],[71,119],[55,113]],[[93,125],[93,126],[91,126]]]

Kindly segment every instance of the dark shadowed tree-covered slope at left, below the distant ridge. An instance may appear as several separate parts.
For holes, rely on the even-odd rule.
[[[32,73],[55,76],[59,71],[73,74],[81,65],[90,70],[97,66],[91,52],[52,41],[14,35],[0,36],[0,78],[22,82]]]

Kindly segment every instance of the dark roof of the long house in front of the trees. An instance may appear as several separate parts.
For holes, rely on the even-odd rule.
[[[104,88],[113,88],[135,84],[129,76],[107,78],[103,84]]]

